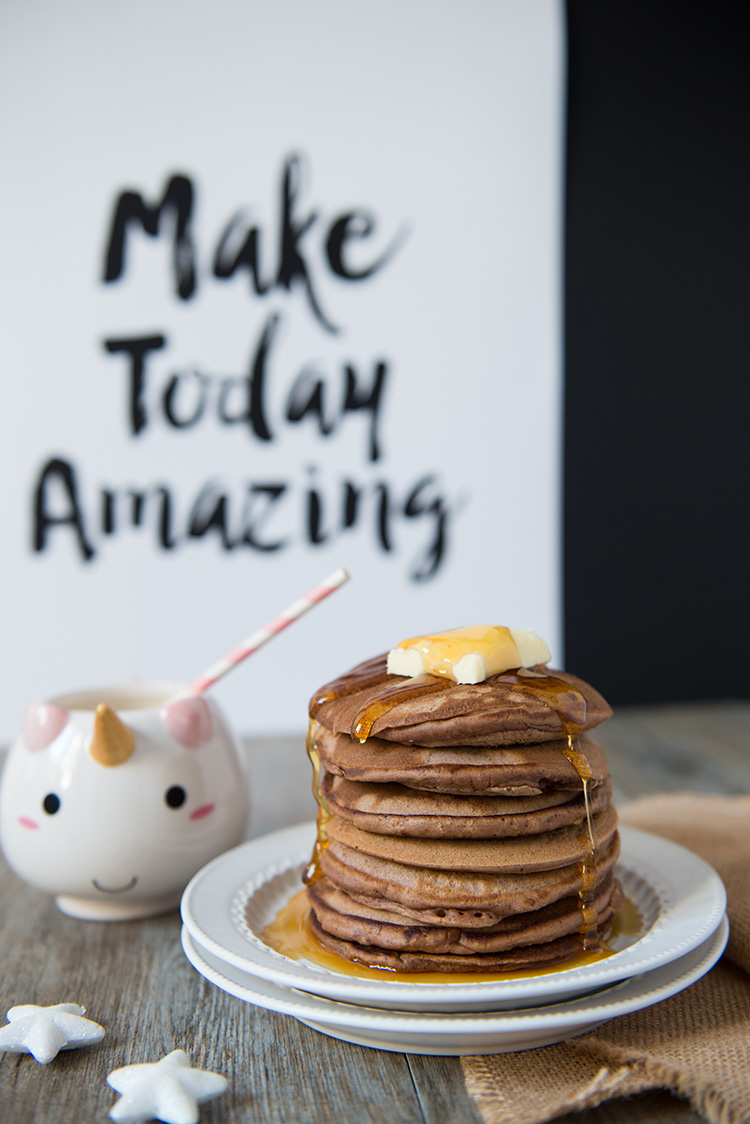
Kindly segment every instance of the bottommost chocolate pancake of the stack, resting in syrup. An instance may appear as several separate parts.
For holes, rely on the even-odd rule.
[[[327,933],[315,913],[310,914],[310,928],[320,944],[329,952],[346,960],[359,961],[373,968],[390,968],[399,972],[509,972],[543,968],[561,960],[569,960],[580,952],[580,936],[571,933],[543,944],[518,945],[505,952],[467,953],[455,955],[439,952],[396,952],[373,944],[359,944]],[[609,921],[598,926],[598,939],[605,940],[612,927]]]

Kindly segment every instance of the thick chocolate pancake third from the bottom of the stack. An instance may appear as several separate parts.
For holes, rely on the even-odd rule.
[[[595,881],[614,867],[620,836],[599,850]],[[335,886],[351,896],[406,906],[409,909],[476,909],[498,919],[510,914],[541,909],[560,898],[578,894],[584,885],[580,862],[528,873],[495,873],[436,870],[354,851],[331,840],[320,855],[320,868]]]

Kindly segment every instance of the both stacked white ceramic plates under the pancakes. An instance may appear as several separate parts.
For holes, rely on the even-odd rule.
[[[281,955],[261,933],[301,888],[313,823],[243,843],[199,871],[182,898],[182,946],[229,995],[346,1042],[422,1054],[549,1045],[667,999],[707,972],[726,944],[716,872],[657,835],[632,827],[621,835],[617,876],[642,924],[593,966],[491,982],[403,984]]]

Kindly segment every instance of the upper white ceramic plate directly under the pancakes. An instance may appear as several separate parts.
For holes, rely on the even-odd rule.
[[[315,824],[251,840],[204,867],[182,897],[186,927],[204,952],[280,987],[392,1010],[498,1010],[532,1007],[609,987],[697,949],[726,908],[719,874],[692,851],[622,827],[617,874],[639,908],[643,931],[620,937],[620,951],[590,967],[478,984],[400,984],[359,979],[306,960],[290,960],[260,937],[300,889]],[[202,954],[202,952],[201,952]]]

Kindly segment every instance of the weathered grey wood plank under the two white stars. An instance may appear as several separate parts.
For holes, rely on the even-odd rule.
[[[184,1049],[195,1064],[231,1081],[229,1093],[204,1109],[214,1124],[424,1124],[405,1055],[334,1041],[219,991],[184,959],[177,914],[79,922],[7,868],[0,899],[11,903],[0,928],[6,1009],[72,1000],[108,1032],[100,1045],[62,1053],[47,1067],[0,1055],[0,1118],[101,1118],[116,1099],[106,1085],[110,1070]]]

